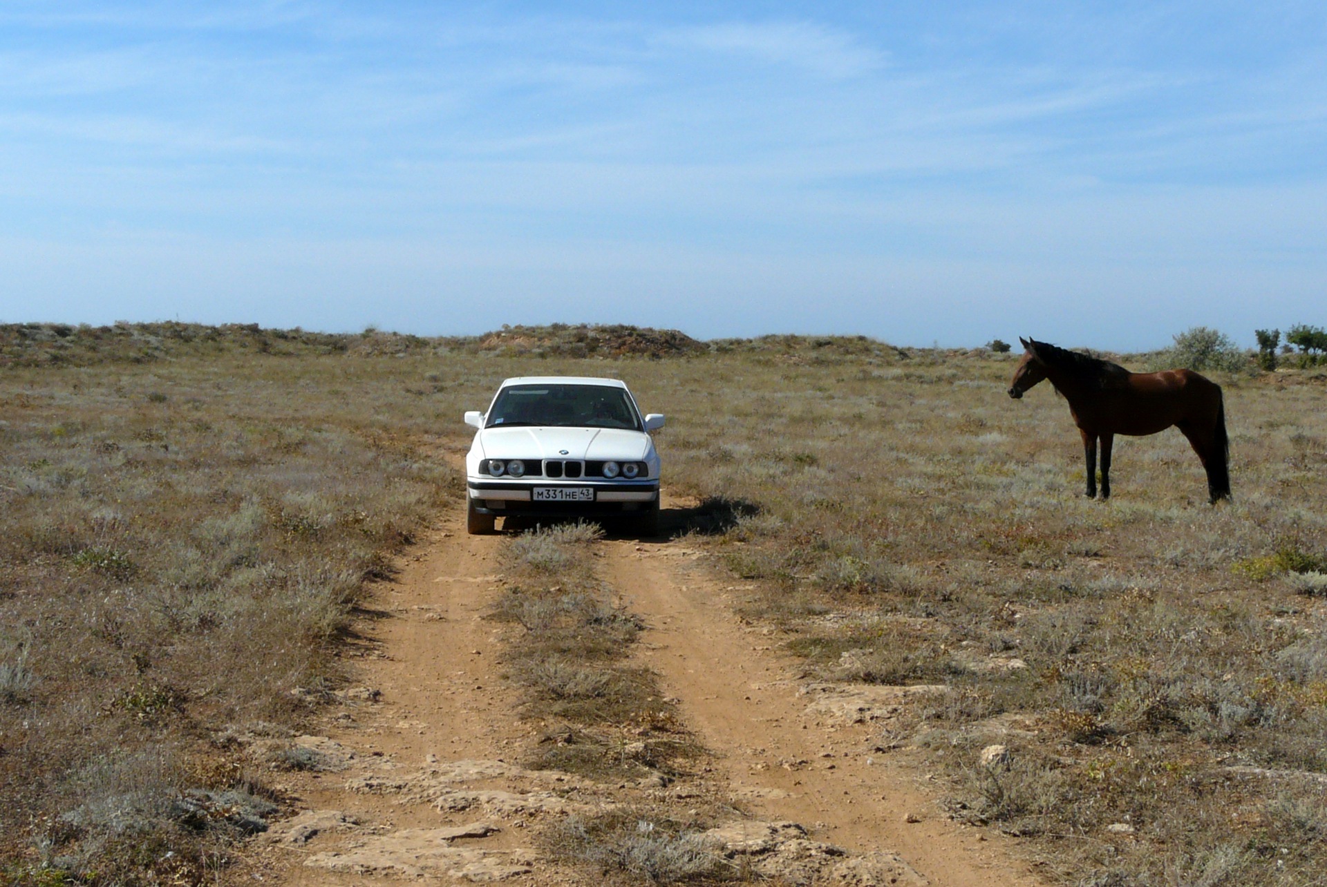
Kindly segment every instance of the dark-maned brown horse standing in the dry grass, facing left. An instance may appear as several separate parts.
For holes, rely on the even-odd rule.
[[[1083,435],[1087,457],[1087,496],[1096,496],[1096,442],[1101,442],[1101,499],[1111,497],[1111,445],[1115,435],[1154,435],[1177,427],[1208,472],[1212,501],[1230,499],[1226,408],[1221,386],[1193,370],[1129,373],[1119,363],[1019,339],[1027,350],[1014,371],[1009,396],[1042,379],[1070,402],[1074,424]]]

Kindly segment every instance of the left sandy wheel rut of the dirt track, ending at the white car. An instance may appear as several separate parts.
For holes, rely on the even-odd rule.
[[[425,534],[394,581],[374,587],[360,626],[366,642],[354,699],[330,720],[317,748],[346,749],[344,766],[291,773],[276,785],[304,811],[260,839],[247,874],[292,886],[399,884],[421,876],[442,882],[450,860],[439,851],[466,850],[512,862],[532,857],[523,813],[439,809],[442,793],[516,789],[500,772],[528,739],[518,723],[516,693],[498,675],[496,627],[484,619],[496,589],[496,537],[464,534],[462,514]],[[296,742],[305,741],[297,739]],[[476,762],[474,778],[449,781],[455,762]],[[496,766],[484,766],[491,764]],[[449,769],[451,768],[451,769]],[[520,788],[531,788],[528,785]],[[344,814],[346,827],[328,825]],[[317,815],[309,815],[317,814]],[[292,823],[293,825],[292,827]],[[446,827],[474,837],[447,838]],[[312,826],[313,834],[308,834]],[[486,833],[486,834],[484,834]],[[460,867],[472,859],[462,858]],[[236,872],[239,874],[239,872]],[[490,878],[483,878],[490,879]],[[559,883],[529,880],[525,883]]]

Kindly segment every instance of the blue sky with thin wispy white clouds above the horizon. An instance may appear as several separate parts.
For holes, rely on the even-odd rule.
[[[1327,325],[1316,3],[0,0],[0,321]]]

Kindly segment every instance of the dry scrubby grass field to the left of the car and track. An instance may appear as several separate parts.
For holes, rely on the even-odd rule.
[[[199,778],[211,737],[342,679],[365,581],[456,492],[455,410],[385,358],[68,363],[0,382],[0,858],[187,879],[235,834],[195,794],[252,781]]]

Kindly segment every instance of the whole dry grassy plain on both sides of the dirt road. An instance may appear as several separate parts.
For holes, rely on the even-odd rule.
[[[950,688],[881,740],[947,774],[955,817],[1023,835],[1071,884],[1323,883],[1320,375],[1218,377],[1234,501],[1213,508],[1176,431],[1117,440],[1113,500],[1083,499],[1068,410],[1047,386],[1010,400],[1013,355],[96,333],[0,337],[4,878],[222,864],[273,801],[264,766],[292,765],[227,737],[336,704],[364,582],[463,495],[442,457],[460,411],[567,373],[669,415],[665,483],[735,516],[697,545],[752,581],[748,611],[808,674]],[[579,605],[510,618],[597,618]],[[523,674],[557,703],[608,671]]]

